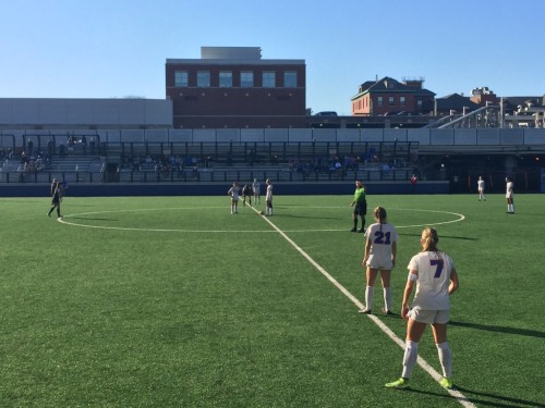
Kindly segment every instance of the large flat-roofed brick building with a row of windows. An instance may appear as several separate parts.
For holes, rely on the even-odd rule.
[[[168,59],[174,128],[306,125],[304,60],[262,60],[258,47],[202,47],[201,59]]]

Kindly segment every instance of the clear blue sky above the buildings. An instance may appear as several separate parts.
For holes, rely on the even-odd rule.
[[[306,106],[378,76],[438,97],[545,94],[545,0],[0,0],[0,98],[165,98],[165,62],[261,47],[306,62]]]

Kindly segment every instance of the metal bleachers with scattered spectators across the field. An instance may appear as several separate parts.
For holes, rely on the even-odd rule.
[[[3,163],[0,183],[50,183],[52,178],[82,184],[408,180],[414,145],[417,143],[113,141],[100,144],[96,151],[75,145],[62,154],[55,151],[39,172],[22,172],[16,159]],[[172,165],[172,157],[182,164]],[[341,169],[335,168],[336,162],[341,162]],[[391,170],[384,171],[386,163]]]

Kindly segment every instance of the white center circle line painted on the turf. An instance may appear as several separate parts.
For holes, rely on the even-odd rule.
[[[247,206],[252,211],[258,212],[258,210],[253,206]],[[96,214],[107,214],[107,213],[117,213],[117,212],[142,212],[142,211],[164,211],[164,210],[203,210],[203,209],[222,209],[225,207],[171,207],[171,208],[146,208],[146,209],[130,209],[130,210],[106,210],[106,211],[92,211],[92,212],[80,212],[76,214],[64,215],[62,219],[57,219],[58,222],[72,225],[72,226],[82,226],[86,228],[97,228],[97,230],[117,230],[117,231],[148,231],[148,232],[183,232],[183,233],[244,233],[247,230],[180,230],[180,228],[140,228],[140,227],[123,227],[123,226],[106,226],[106,225],[88,225],[88,224],[80,224],[76,222],[66,221],[66,219],[82,215],[96,215]],[[344,208],[344,207],[313,207],[313,208]],[[420,211],[420,212],[437,212],[444,214],[452,214],[457,215],[455,220],[451,221],[440,221],[435,223],[426,223],[426,224],[414,224],[414,225],[396,225],[396,228],[411,228],[416,226],[433,226],[433,225],[443,225],[450,224],[455,222],[460,222],[465,220],[463,214],[459,214],[457,212],[450,211],[439,211],[439,210],[422,210],[422,209],[412,209],[412,208],[395,208],[393,210],[398,211]],[[317,232],[343,232],[346,228],[322,228],[322,230],[284,230],[284,233],[317,233]],[[275,233],[271,230],[254,230],[255,233]]]

